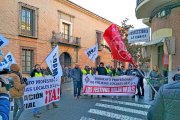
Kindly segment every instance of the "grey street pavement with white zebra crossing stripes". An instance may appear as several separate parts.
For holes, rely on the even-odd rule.
[[[40,118],[34,118],[32,110],[25,110],[19,120],[146,120],[147,110],[152,101],[149,101],[149,88],[145,82],[145,96],[111,96],[97,98],[82,95],[76,100],[73,97],[73,83],[66,81],[62,84],[61,100],[58,108],[50,110],[41,107]],[[12,112],[10,114],[12,120]]]

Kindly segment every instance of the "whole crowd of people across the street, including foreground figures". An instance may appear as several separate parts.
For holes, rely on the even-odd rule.
[[[11,73],[8,74],[8,79],[12,78],[14,83],[11,86],[9,93],[11,98],[14,99],[14,110],[13,110],[13,120],[18,120],[24,110],[24,89],[28,85],[20,73],[20,68],[17,64],[12,64],[10,66]],[[97,68],[90,67],[89,65],[85,65],[83,69],[80,68],[79,64],[75,64],[74,68],[64,67],[63,68],[63,79],[65,81],[67,79],[73,80],[74,85],[74,98],[79,99],[81,96],[81,88],[82,88],[82,76],[83,75],[105,75],[105,76],[122,76],[122,75],[129,75],[129,76],[137,76],[139,78],[139,82],[137,84],[137,94],[139,97],[144,96],[144,72],[141,68],[133,68],[132,65],[129,65],[128,69],[125,70],[124,66],[113,68],[109,64],[106,66],[103,62],[99,64]],[[41,69],[39,64],[36,64],[31,73],[31,77],[42,77],[51,75],[49,68]],[[6,76],[7,77],[7,76]],[[5,81],[7,78],[4,75],[0,76],[0,81]],[[163,85],[161,84],[163,75],[160,73],[159,68],[157,66],[153,66],[152,71],[149,73],[150,84],[152,84],[152,99],[154,102],[148,111],[148,120],[168,120],[168,119],[176,119],[179,118],[179,112],[169,109],[166,112],[166,108],[172,107],[177,108],[179,107],[180,100],[178,98],[178,90],[179,88],[179,80],[180,80],[180,67],[177,69],[177,73],[174,75],[173,80],[174,82],[171,84]],[[162,87],[161,87],[162,86]],[[9,95],[7,94],[7,88],[2,87],[2,82],[0,82],[0,118],[9,118]],[[155,97],[155,91],[158,91]],[[91,96],[92,98],[93,96]],[[99,96],[98,96],[99,97]],[[102,96],[105,97],[105,96]],[[113,98],[114,96],[112,96]],[[170,103],[168,101],[171,101]],[[167,104],[166,104],[167,103]],[[52,103],[54,108],[57,108],[58,105],[54,102]],[[47,105],[47,110],[50,109],[50,106]],[[159,114],[156,114],[159,113]],[[41,112],[38,108],[33,109],[33,116],[35,118],[40,117]],[[172,116],[173,115],[173,116]]]

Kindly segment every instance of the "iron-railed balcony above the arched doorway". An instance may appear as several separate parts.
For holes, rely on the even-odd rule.
[[[57,44],[64,44],[69,46],[80,47],[81,38],[69,36],[63,33],[55,33],[52,32],[52,39],[50,40],[51,43]]]

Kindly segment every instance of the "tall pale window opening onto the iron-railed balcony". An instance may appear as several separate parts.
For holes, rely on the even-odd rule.
[[[63,22],[62,30],[63,30],[62,32],[64,34],[63,38],[66,39],[66,40],[69,40],[69,37],[70,37],[70,25]]]

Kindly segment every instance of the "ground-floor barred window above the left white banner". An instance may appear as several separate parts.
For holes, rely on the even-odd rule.
[[[22,49],[22,72],[29,73],[33,67],[34,50]]]

